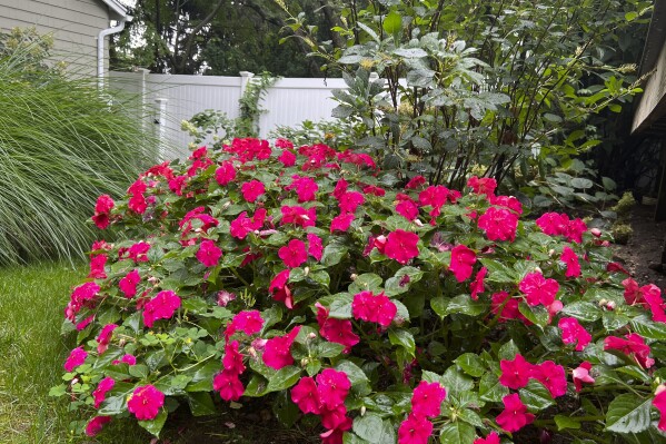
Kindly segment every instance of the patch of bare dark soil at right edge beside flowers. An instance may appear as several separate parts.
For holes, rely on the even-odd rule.
[[[618,259],[638,285],[655,284],[666,288],[666,266],[662,266],[662,248],[666,221],[656,223],[654,206],[636,204],[632,209],[630,225],[634,234],[627,245],[615,246]]]

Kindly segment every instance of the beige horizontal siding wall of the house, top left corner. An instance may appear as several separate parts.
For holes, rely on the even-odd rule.
[[[52,33],[53,59],[64,60],[70,72],[93,76],[97,34],[109,28],[109,11],[99,0],[0,0],[0,30],[17,27]]]

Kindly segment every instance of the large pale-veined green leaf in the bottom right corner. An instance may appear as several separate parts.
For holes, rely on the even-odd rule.
[[[640,433],[649,427],[652,398],[645,399],[632,393],[616,396],[606,412],[606,431],[614,433]]]

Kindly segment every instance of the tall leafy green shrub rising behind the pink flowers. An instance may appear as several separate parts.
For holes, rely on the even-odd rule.
[[[613,60],[650,4],[369,0],[341,9],[342,48],[318,42],[302,16],[291,29],[346,70],[335,115],[362,128],[361,145],[459,187],[473,172],[544,174],[546,158],[567,164],[597,145],[588,118],[639,91],[633,68]]]

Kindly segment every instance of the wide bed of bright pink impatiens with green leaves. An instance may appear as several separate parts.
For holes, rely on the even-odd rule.
[[[666,438],[666,304],[580,219],[324,145],[233,140],[102,196],[63,332],[95,435],[249,398],[322,443]],[[103,433],[103,432],[102,432]]]

